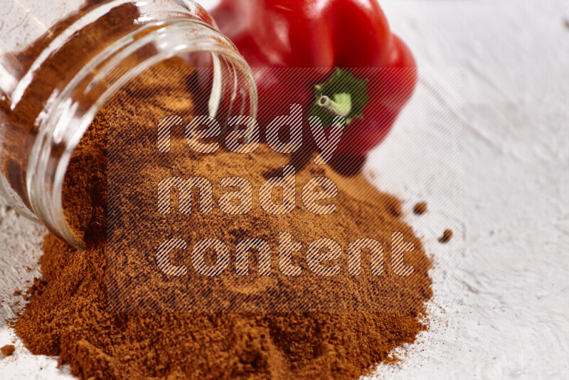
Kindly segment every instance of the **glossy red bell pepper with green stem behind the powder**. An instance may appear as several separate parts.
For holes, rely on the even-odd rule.
[[[346,114],[336,156],[363,157],[379,144],[415,88],[413,55],[376,0],[222,0],[212,14],[253,68],[261,125],[290,103],[320,116],[317,102],[327,103]]]

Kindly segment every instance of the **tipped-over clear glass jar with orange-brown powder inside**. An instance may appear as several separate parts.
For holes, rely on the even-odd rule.
[[[248,64],[193,0],[0,0],[0,8],[0,194],[73,246],[83,242],[65,222],[65,171],[122,85],[176,56],[211,68],[201,94],[210,115],[256,115]]]

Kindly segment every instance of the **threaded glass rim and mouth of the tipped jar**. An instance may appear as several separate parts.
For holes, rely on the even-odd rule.
[[[174,57],[186,65],[177,70],[194,70],[191,80],[199,89],[195,100],[199,112],[221,120],[229,115],[256,115],[257,95],[249,66],[233,44],[206,23],[161,21],[112,43],[48,100],[50,112],[42,120],[28,162],[26,184],[33,211],[53,233],[73,246],[85,247],[78,228],[85,227],[85,221],[69,221],[62,199],[75,148],[97,112],[114,95]],[[175,75],[164,78],[164,82],[176,80]],[[82,214],[84,218],[85,212]]]

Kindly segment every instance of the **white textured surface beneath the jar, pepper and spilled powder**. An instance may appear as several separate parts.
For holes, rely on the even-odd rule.
[[[408,122],[418,115],[410,107],[385,145],[371,155],[367,170],[381,189],[407,201],[406,211],[415,201],[429,201],[430,212],[410,216],[410,223],[425,236],[438,263],[432,271],[430,330],[418,343],[400,349],[398,366],[381,366],[378,377],[567,379],[569,27],[564,21],[569,20],[569,1],[381,4],[421,68],[460,69],[462,110],[456,117],[464,130],[462,163],[422,165],[413,172],[410,159],[401,156],[395,174],[389,161],[394,158],[386,153],[390,149],[413,142],[425,149],[429,142],[446,141],[445,123],[436,117],[431,117],[432,125],[414,130]],[[447,87],[452,81],[445,78],[430,75],[422,84],[433,106],[454,110],[457,104],[449,100],[456,97],[447,92],[454,87]],[[423,152],[418,159],[428,162],[428,149]],[[437,179],[441,169],[464,179],[464,224],[456,209],[447,209],[460,194],[440,193],[448,187]],[[411,186],[413,178],[425,185]],[[447,204],[446,196],[451,200]],[[448,246],[436,243],[440,228],[451,225],[464,233],[464,250],[460,239]],[[3,317],[10,315],[14,290],[39,275],[41,233],[13,211],[0,210]],[[12,338],[0,325],[0,346]],[[2,379],[69,377],[55,369],[54,359],[32,357],[19,342],[14,357],[0,359]]]

